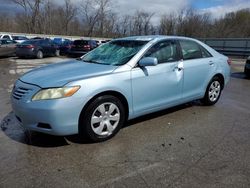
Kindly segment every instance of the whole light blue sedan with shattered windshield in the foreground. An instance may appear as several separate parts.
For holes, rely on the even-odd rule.
[[[229,63],[191,38],[116,39],[81,59],[23,75],[12,107],[28,130],[104,141],[128,119],[196,99],[215,104],[229,81]]]

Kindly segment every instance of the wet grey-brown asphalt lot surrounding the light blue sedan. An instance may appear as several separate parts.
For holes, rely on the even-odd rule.
[[[132,120],[104,143],[26,132],[10,106],[15,79],[67,58],[0,59],[0,187],[250,187],[250,80],[233,60],[220,101]]]

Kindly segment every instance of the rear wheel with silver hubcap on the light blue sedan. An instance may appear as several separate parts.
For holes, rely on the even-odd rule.
[[[218,102],[222,91],[222,81],[219,77],[215,76],[209,82],[204,98],[201,100],[206,106],[214,105]]]

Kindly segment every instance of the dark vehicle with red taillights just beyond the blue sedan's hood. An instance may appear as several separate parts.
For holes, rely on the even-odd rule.
[[[80,57],[98,47],[95,40],[75,40],[68,52],[69,56]]]

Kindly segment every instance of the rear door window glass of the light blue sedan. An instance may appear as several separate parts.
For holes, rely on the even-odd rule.
[[[202,58],[200,45],[194,41],[181,40],[181,51],[184,60]]]

